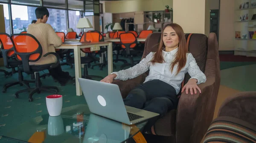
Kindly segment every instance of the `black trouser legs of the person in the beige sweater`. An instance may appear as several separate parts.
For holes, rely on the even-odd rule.
[[[49,69],[49,74],[53,77],[53,79],[56,79],[62,85],[66,84],[67,81],[71,79],[71,76],[68,72],[62,71],[61,65]]]

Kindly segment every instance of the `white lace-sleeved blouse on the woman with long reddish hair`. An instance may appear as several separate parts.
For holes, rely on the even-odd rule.
[[[186,65],[180,70],[177,76],[175,75],[177,72],[177,64],[174,66],[173,72],[171,72],[171,63],[175,58],[177,50],[178,48],[170,52],[166,52],[163,50],[162,54],[165,62],[155,63],[154,65],[150,61],[153,59],[155,52],[151,52],[144,59],[142,59],[139,64],[136,64],[135,66],[130,67],[126,70],[113,72],[114,74],[116,74],[115,79],[119,79],[122,81],[133,79],[149,70],[149,75],[146,77],[144,83],[154,79],[159,79],[174,87],[177,94],[180,92],[180,86],[186,73],[189,73],[191,79],[197,79],[197,84],[204,83],[206,81],[206,76],[199,69],[197,63],[195,62],[195,58],[192,56],[191,53],[187,53]]]

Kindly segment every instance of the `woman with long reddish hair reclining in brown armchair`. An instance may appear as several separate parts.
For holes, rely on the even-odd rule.
[[[198,84],[206,81],[206,76],[199,69],[194,57],[187,51],[186,39],[180,25],[171,23],[163,28],[161,40],[156,52],[149,53],[139,64],[126,70],[113,72],[102,79],[102,82],[112,83],[113,79],[133,79],[149,70],[143,84],[135,87],[124,99],[127,106],[144,109],[165,115],[168,110],[176,109],[177,94],[181,83],[188,72],[191,79],[183,87],[186,94],[201,93]],[[198,90],[198,91],[197,91]],[[148,121],[144,131],[148,131],[154,122]]]

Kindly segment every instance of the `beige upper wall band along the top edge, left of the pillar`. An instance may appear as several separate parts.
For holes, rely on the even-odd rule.
[[[105,12],[125,13],[134,11],[163,11],[168,5],[172,8],[172,0],[122,0],[105,1]]]

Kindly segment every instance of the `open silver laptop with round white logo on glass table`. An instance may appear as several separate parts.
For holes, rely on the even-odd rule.
[[[90,112],[121,123],[132,125],[158,116],[154,112],[126,106],[119,87],[90,79],[78,78]]]

